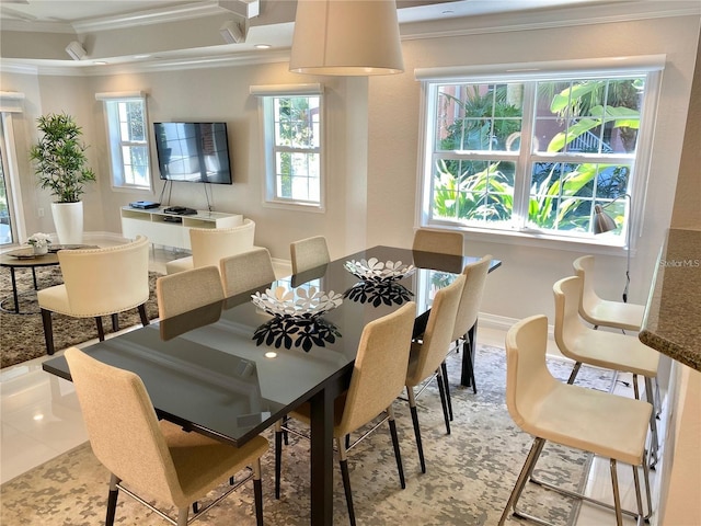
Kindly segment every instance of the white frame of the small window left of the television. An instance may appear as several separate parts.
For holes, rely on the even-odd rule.
[[[96,93],[95,100],[103,102],[105,116],[105,136],[110,160],[110,183],[117,192],[148,191],[153,192],[153,163],[151,161],[151,134],[149,129],[148,104],[143,92]],[[123,140],[117,104],[120,102],[140,102],[143,115],[143,141]],[[147,184],[133,184],[125,181],[124,147],[143,147],[146,149]]]

